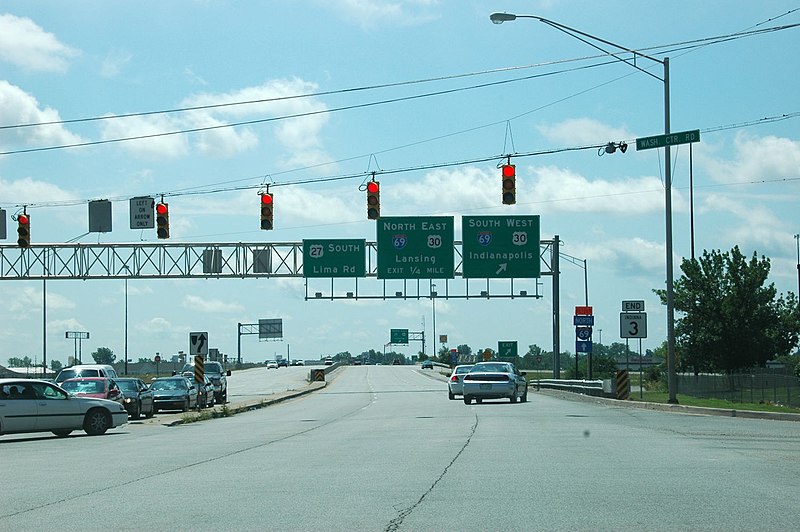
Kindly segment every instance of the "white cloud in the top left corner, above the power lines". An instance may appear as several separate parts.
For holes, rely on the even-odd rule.
[[[29,18],[0,15],[0,61],[28,70],[63,72],[79,52]]]

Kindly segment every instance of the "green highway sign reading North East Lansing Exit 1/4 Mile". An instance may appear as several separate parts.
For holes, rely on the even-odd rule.
[[[452,216],[382,216],[377,221],[378,279],[455,277]]]

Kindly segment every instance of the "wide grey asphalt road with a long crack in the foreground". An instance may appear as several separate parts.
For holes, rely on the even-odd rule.
[[[230,418],[4,436],[0,530],[797,529],[798,423],[331,377]]]

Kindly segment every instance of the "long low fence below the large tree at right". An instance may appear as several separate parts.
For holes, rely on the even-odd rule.
[[[800,379],[759,369],[752,373],[678,375],[678,393],[734,403],[774,403],[800,407]]]

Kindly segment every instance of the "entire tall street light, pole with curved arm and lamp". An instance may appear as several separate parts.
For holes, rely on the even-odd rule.
[[[543,22],[548,26],[555,28],[563,33],[566,33],[570,37],[578,39],[579,41],[588,44],[589,46],[596,48],[603,53],[609,54],[612,57],[626,63],[633,68],[644,72],[645,74],[656,78],[657,80],[661,81],[664,84],[664,133],[669,135],[670,133],[670,109],[669,109],[669,58],[665,57],[664,59],[658,59],[647,54],[643,54],[642,52],[637,52],[636,50],[631,50],[630,48],[626,48],[619,44],[613,43],[611,41],[607,41],[596,35],[592,35],[590,33],[583,32],[581,30],[571,28],[565,24],[561,24],[560,22],[555,22],[553,20],[546,19],[544,17],[540,17],[537,15],[515,15],[512,13],[492,13],[489,16],[489,19],[495,24],[502,24],[503,22],[509,22],[512,20],[516,20],[518,18],[530,18],[534,20],[538,20],[539,22]],[[608,50],[603,49],[602,47],[594,44],[594,42],[602,43],[608,46],[612,46],[623,52],[633,54],[634,61],[629,61],[623,57],[620,57],[617,53],[609,52]],[[636,57],[643,57],[645,59],[649,59],[655,63],[658,63],[664,67],[664,74],[663,77],[658,77],[657,75],[649,72],[638,66],[635,62]],[[672,285],[672,278],[673,278],[673,264],[672,264],[672,157],[670,155],[670,146],[667,144],[664,147],[664,206],[665,206],[665,213],[666,213],[666,292],[667,292],[667,385],[669,388],[669,399],[670,403],[677,403],[677,375],[675,372],[675,306],[674,306],[674,290]]]

